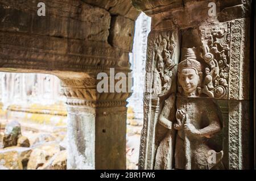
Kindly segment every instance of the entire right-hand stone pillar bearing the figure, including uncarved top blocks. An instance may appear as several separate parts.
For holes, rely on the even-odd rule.
[[[208,142],[204,145],[205,150],[211,148],[216,151],[214,153],[219,151],[219,162],[214,166],[209,163],[204,168],[251,169],[255,143],[252,138],[253,100],[250,94],[250,91],[253,92],[250,69],[250,65],[253,65],[250,57],[250,1],[133,0],[133,5],[152,18],[147,45],[144,124],[139,168],[203,168],[201,166],[204,164],[199,163],[204,153],[201,152],[200,157],[195,157],[200,152],[196,151],[196,142],[189,144],[189,141],[191,143],[191,140],[200,140],[203,137]],[[175,34],[175,31],[179,33]],[[177,44],[179,41],[180,44]],[[188,52],[185,53],[184,50]],[[168,68],[166,64],[172,51],[176,54],[171,58],[172,61],[183,62],[178,65],[180,70],[173,70],[171,76],[165,68]],[[159,62],[163,64],[163,72],[162,68],[159,70]],[[183,67],[202,70],[198,74],[201,76],[201,83],[197,87],[196,96],[193,95],[196,98],[190,99],[189,94],[184,96],[184,89],[180,85],[182,80],[173,77],[179,77]],[[171,88],[163,92],[166,89],[164,82],[168,77],[172,79],[171,87],[175,89],[177,86],[177,91]],[[155,104],[158,99],[159,105]],[[184,101],[180,102],[181,99]],[[196,108],[198,102],[213,102],[216,105],[216,108],[203,111],[208,112],[205,113],[206,117],[212,117],[208,121],[217,121],[217,124],[220,121],[220,127],[216,127],[215,133],[209,137],[205,137],[203,132],[213,127],[209,127],[210,124],[204,117],[195,118],[203,108]],[[180,158],[176,159],[176,150],[172,147],[173,144],[182,142],[177,140],[180,139],[180,134],[176,134],[176,130],[180,133],[176,124],[180,117],[175,116],[182,106],[187,112],[186,116],[190,115],[189,118],[194,119],[192,126],[183,122],[182,127],[185,128],[181,128],[185,132],[184,145],[181,144],[184,148],[179,150],[184,151],[183,155],[180,154],[184,159],[183,166],[180,165]],[[158,115],[154,111],[156,107],[159,109]],[[205,125],[197,125],[200,121]],[[196,136],[191,138],[191,134]],[[160,154],[163,149],[166,155]],[[205,158],[208,158],[207,152],[205,153]]]

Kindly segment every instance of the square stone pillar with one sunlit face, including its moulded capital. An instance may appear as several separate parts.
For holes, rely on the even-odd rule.
[[[68,109],[68,169],[126,169],[129,92],[98,93],[96,78],[61,78]]]

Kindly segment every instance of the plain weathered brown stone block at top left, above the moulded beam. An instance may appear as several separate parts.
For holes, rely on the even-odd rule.
[[[108,11],[80,1],[44,1],[46,16],[38,16],[38,2],[0,2],[0,30],[80,40],[108,40]]]

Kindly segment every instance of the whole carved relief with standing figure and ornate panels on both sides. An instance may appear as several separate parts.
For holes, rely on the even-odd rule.
[[[246,167],[246,28],[246,19],[208,24],[199,36],[181,32],[182,44],[179,30],[150,33],[140,169]]]

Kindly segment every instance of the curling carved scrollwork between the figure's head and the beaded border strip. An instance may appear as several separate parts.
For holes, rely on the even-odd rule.
[[[210,98],[226,98],[229,76],[229,29],[212,31],[203,41],[201,57],[209,67],[205,68],[205,79],[202,92]]]

